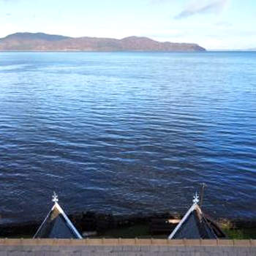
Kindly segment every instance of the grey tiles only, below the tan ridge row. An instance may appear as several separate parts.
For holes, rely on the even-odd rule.
[[[256,256],[256,246],[0,246],[0,256]]]

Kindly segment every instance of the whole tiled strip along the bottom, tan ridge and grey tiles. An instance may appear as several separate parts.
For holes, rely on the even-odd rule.
[[[255,256],[256,240],[0,239],[0,256]]]

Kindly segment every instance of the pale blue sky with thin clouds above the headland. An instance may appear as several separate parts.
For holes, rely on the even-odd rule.
[[[256,0],[0,0],[0,37],[135,35],[207,49],[256,48],[255,21]]]

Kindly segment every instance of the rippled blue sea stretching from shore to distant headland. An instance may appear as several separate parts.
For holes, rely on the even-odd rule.
[[[1,222],[256,217],[256,53],[0,53]]]

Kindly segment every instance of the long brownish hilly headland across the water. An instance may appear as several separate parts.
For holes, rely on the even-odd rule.
[[[44,33],[15,33],[0,39],[0,50],[31,51],[205,51],[192,43],[157,42],[148,37],[124,39],[64,37]]]

